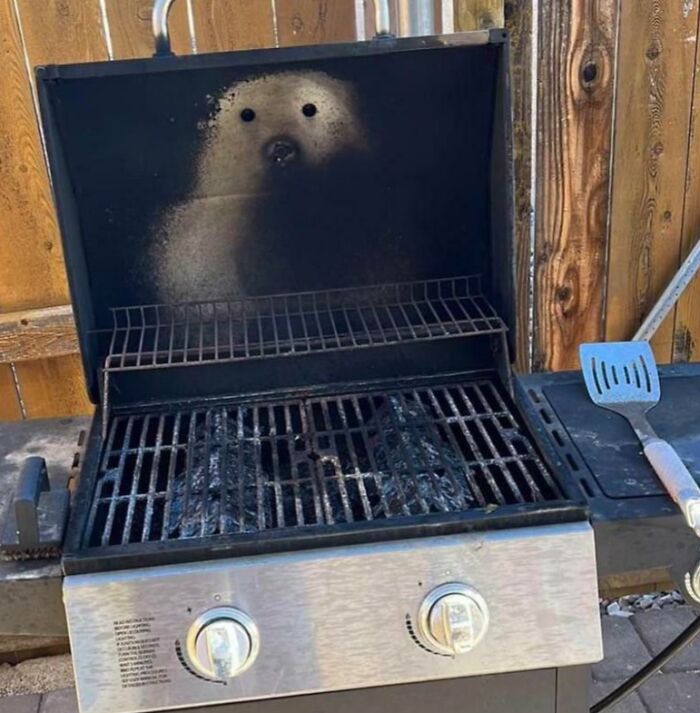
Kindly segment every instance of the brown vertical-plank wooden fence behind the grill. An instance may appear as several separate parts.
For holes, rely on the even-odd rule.
[[[152,0],[0,0],[0,419],[89,410],[31,68],[148,56]],[[373,0],[179,0],[178,53],[352,40]],[[625,339],[700,232],[695,0],[436,0],[512,34],[522,369]],[[654,340],[698,358],[700,282]]]

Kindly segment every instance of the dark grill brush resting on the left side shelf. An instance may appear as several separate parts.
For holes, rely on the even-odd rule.
[[[0,554],[14,560],[58,557],[68,501],[67,490],[51,489],[46,461],[37,456],[27,458],[5,518]]]

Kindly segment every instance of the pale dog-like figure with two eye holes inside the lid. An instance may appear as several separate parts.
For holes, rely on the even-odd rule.
[[[264,75],[215,100],[187,198],[153,230],[163,302],[294,289],[331,229],[314,206],[346,205],[366,151],[351,85],[322,72]],[[328,211],[325,211],[327,213]],[[304,241],[288,235],[318,235]],[[155,257],[155,256],[154,256]]]

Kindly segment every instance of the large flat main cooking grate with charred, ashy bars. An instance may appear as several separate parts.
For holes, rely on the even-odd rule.
[[[115,416],[85,545],[561,498],[490,381]]]

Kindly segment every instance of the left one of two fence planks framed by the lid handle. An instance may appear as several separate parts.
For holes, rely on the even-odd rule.
[[[193,0],[192,6],[198,52],[275,46],[271,0]]]

